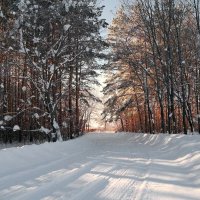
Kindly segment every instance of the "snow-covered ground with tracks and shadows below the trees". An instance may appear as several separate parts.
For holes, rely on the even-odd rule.
[[[0,200],[199,200],[200,136],[93,133],[0,150]]]

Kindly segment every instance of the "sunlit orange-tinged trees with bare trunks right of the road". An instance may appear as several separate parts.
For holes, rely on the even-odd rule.
[[[142,0],[110,28],[104,112],[125,131],[199,131],[199,1]],[[113,94],[112,91],[115,91]]]

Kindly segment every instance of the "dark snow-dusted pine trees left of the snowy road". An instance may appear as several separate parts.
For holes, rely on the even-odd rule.
[[[20,0],[0,8],[2,139],[13,131],[30,141],[78,136],[89,101],[99,101],[90,83],[98,84],[97,59],[106,47],[103,7],[95,0]]]

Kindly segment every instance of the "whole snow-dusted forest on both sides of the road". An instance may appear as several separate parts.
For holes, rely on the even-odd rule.
[[[97,0],[0,0],[0,142],[78,137],[96,103],[118,131],[200,133],[199,6],[123,1],[108,27]]]

